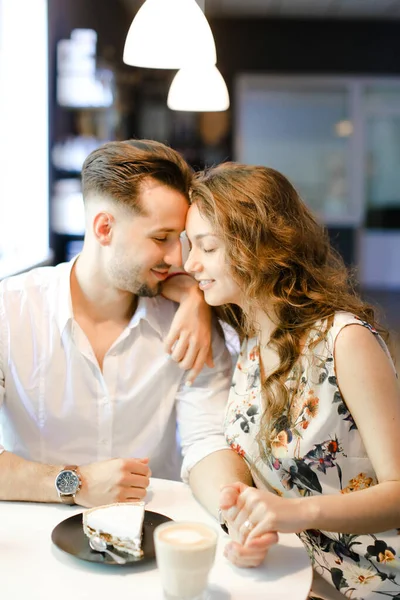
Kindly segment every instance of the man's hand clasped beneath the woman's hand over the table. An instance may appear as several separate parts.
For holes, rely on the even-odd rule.
[[[238,506],[241,493],[246,489],[258,491],[244,483],[225,486],[221,490],[220,507],[232,540],[225,546],[224,556],[237,567],[258,567],[264,562],[269,548],[276,544],[279,538],[275,531],[249,537],[249,530],[243,527],[246,515]]]

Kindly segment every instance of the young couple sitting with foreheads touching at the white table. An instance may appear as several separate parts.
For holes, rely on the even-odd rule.
[[[232,163],[193,178],[148,141],[106,144],[82,180],[76,261],[1,284],[1,498],[143,497],[151,472],[176,475],[178,423],[182,477],[222,509],[233,563],[260,564],[295,532],[319,596],[398,597],[396,375],[372,308],[288,180]],[[168,277],[183,230],[198,286]],[[215,327],[214,367],[208,356],[196,378],[202,293],[242,340],[227,407]],[[77,488],[56,489],[71,471]]]

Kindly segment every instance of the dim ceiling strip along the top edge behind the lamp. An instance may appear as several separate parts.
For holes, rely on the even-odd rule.
[[[121,2],[134,13],[144,0]],[[400,0],[199,0],[203,3],[210,17],[400,19]]]

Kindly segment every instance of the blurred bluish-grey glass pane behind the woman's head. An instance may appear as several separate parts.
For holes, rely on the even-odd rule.
[[[236,155],[286,175],[326,225],[358,224],[357,138],[352,82],[303,76],[242,76]]]

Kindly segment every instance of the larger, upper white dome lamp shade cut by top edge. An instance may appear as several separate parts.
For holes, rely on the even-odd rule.
[[[146,0],[132,21],[123,60],[152,69],[212,64],[217,53],[212,31],[195,0]]]

